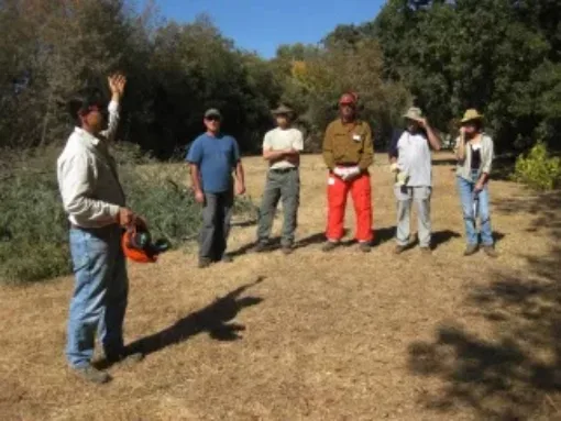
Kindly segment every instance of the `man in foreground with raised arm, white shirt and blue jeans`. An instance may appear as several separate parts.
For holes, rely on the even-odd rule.
[[[110,376],[91,365],[96,331],[109,363],[124,357],[142,358],[141,354],[127,355],[123,345],[129,281],[121,230],[145,222],[125,207],[117,165],[108,148],[116,137],[125,84],[121,75],[109,78],[112,98],[106,130],[102,130],[105,101],[99,92],[86,92],[69,101],[77,126],[57,162],[58,188],[70,222],[76,277],[66,356],[79,376],[98,384],[109,381]]]

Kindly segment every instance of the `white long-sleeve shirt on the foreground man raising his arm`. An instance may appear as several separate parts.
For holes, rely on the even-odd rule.
[[[117,164],[108,143],[119,124],[119,104],[109,103],[108,129],[94,136],[75,128],[58,157],[58,189],[72,224],[101,228],[117,223],[119,208],[124,207],[124,192],[117,175]]]

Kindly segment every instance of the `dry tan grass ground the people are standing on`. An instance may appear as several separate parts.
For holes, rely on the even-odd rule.
[[[383,155],[377,245],[323,254],[326,170],[305,156],[292,256],[245,253],[245,224],[232,264],[197,269],[193,247],[131,264],[127,341],[150,354],[106,386],[66,368],[72,278],[1,287],[0,420],[561,419],[560,195],[493,181],[501,256],[463,257],[451,158],[435,162],[432,256],[393,254]],[[258,200],[265,165],[245,167]],[[349,239],[353,219],[350,206]]]

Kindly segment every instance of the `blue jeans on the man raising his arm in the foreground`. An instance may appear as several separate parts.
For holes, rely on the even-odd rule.
[[[66,356],[74,368],[90,364],[96,331],[106,356],[123,351],[123,320],[129,295],[121,229],[72,229],[76,284],[70,301]]]

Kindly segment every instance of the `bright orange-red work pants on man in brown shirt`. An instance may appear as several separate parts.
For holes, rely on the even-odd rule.
[[[326,236],[329,241],[339,241],[343,237],[344,209],[349,191],[353,198],[356,214],[355,239],[360,242],[372,242],[372,192],[369,174],[362,174],[350,181],[344,181],[334,174],[329,175]]]

